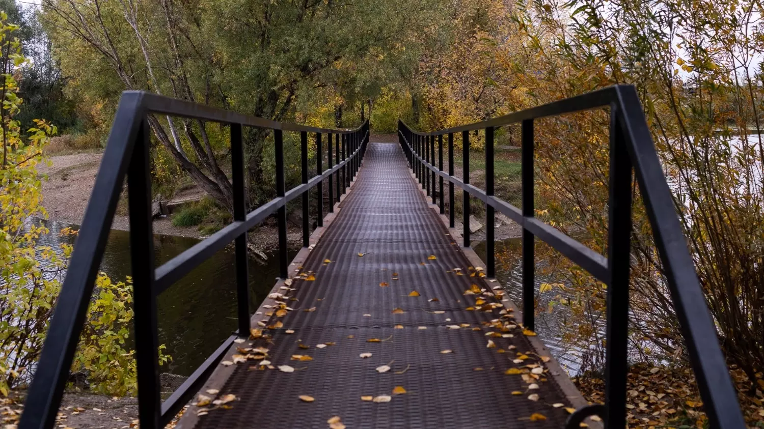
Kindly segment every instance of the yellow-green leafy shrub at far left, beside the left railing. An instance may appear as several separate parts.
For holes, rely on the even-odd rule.
[[[0,13],[0,52],[5,71],[28,60],[21,44],[12,40],[17,29]],[[60,292],[61,279],[73,247],[60,249],[38,245],[49,231],[34,218],[47,218],[41,205],[37,164],[45,163],[44,149],[56,127],[35,120],[22,137],[15,118],[21,109],[13,73],[3,73],[2,164],[0,164],[0,395],[23,386],[33,376],[48,324]],[[62,234],[74,234],[65,228]],[[129,282],[129,279],[128,279]],[[134,393],[135,367],[132,352],[125,348],[133,317],[131,286],[112,284],[99,276],[95,299],[86,315],[86,326],[75,355],[73,371],[85,370],[92,387],[110,394]],[[168,356],[160,355],[162,362]]]

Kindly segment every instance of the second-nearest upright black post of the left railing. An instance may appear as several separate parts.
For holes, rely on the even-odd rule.
[[[244,182],[244,145],[241,143],[241,124],[231,124],[231,179],[234,191],[234,221],[247,218],[247,186]],[[236,237],[236,303],[239,337],[249,336],[249,258],[247,231]]]

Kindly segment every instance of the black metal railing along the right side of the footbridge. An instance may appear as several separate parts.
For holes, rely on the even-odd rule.
[[[533,205],[533,121],[595,108],[610,108],[610,199],[607,258],[595,253],[534,217]],[[494,129],[520,123],[522,133],[522,209],[494,195]],[[485,131],[486,190],[469,183],[469,132]],[[462,177],[454,176],[454,134],[462,133]],[[567,98],[536,108],[475,124],[430,133],[413,131],[398,124],[400,146],[408,157],[419,183],[435,204],[435,176],[439,176],[440,212],[445,213],[443,180],[448,181],[448,218],[455,226],[454,187],[464,192],[464,246],[470,245],[470,196],[486,205],[486,271],[495,276],[494,211],[499,211],[523,227],[523,324],[534,328],[534,237],[567,256],[607,285],[607,331],[605,363],[605,403],[589,405],[571,414],[566,427],[578,427],[584,418],[597,414],[606,427],[626,427],[627,331],[629,324],[629,269],[632,210],[632,169],[636,173],[643,202],[656,240],[660,259],[671,292],[672,302],[688,347],[690,361],[701,391],[704,411],[711,427],[745,426],[730,373],[724,361],[717,330],[708,312],[704,294],[695,273],[693,260],[682,234],[672,194],[652,142],[636,89],[616,85],[585,95]],[[443,136],[448,136],[448,171],[443,170]],[[438,166],[435,149],[438,140]],[[431,171],[432,175],[427,172]],[[431,177],[432,176],[432,177]],[[432,179],[432,180],[431,180]],[[432,184],[432,186],[431,186]]]

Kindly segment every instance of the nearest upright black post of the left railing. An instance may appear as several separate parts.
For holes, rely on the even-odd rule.
[[[154,293],[154,234],[151,226],[151,137],[148,133],[148,121],[143,118],[128,166],[128,210],[135,363],[138,369],[138,420],[141,427],[157,429],[160,427],[161,398],[157,296]]]

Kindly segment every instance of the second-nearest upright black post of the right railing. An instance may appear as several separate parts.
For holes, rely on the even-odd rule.
[[[533,218],[533,119],[526,119],[521,125],[522,155],[520,174],[522,176],[523,217]],[[536,305],[536,256],[533,252],[533,234],[523,228],[523,325],[533,331]]]

